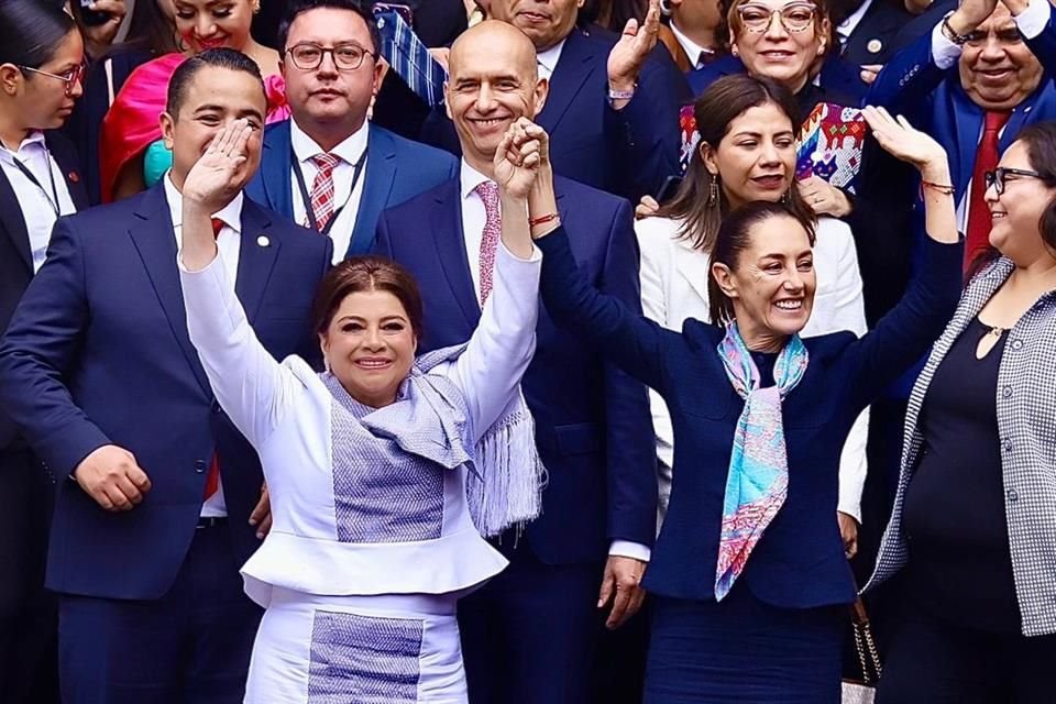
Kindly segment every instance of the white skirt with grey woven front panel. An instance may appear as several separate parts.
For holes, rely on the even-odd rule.
[[[455,595],[315,596],[275,587],[246,704],[466,704]]]

